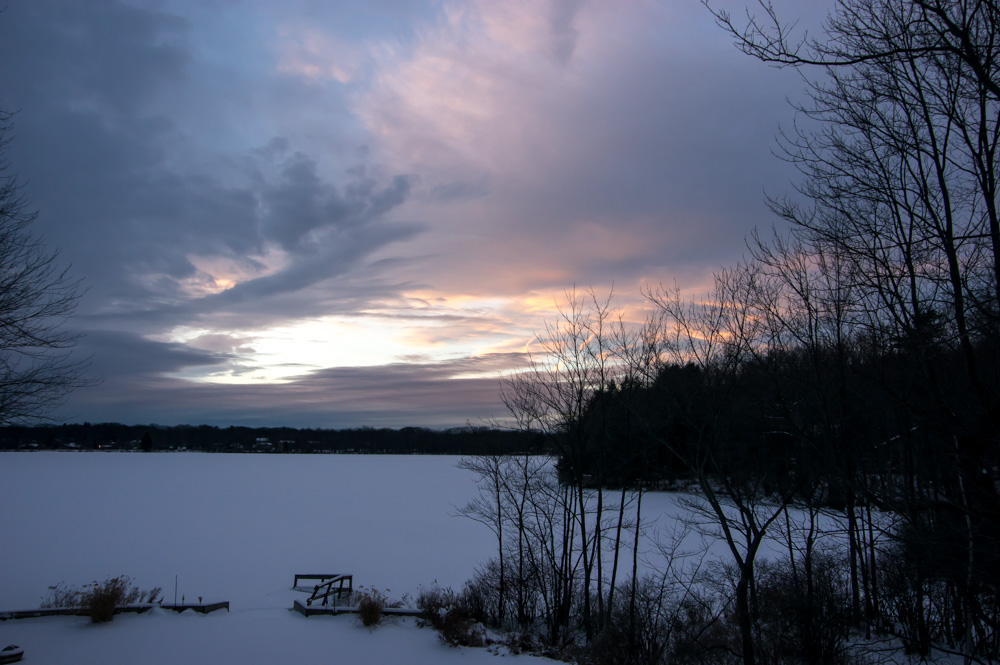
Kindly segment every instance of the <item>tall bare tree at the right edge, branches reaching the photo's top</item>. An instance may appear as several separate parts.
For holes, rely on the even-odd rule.
[[[914,547],[934,544],[924,564],[959,590],[968,660],[995,639],[980,597],[1000,587],[1000,4],[840,0],[820,39],[761,7],[742,26],[715,15],[754,57],[822,66],[800,109],[819,129],[784,144],[811,205],[772,206],[847,262],[883,364],[910,364],[883,389],[909,420],[898,436],[927,452],[896,508]]]

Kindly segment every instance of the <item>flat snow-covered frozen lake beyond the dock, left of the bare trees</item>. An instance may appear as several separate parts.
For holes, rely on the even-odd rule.
[[[416,594],[461,586],[490,533],[454,517],[475,490],[458,457],[0,454],[0,609],[47,587],[129,575],[173,598],[263,607],[295,573]],[[290,595],[291,594],[291,595]]]

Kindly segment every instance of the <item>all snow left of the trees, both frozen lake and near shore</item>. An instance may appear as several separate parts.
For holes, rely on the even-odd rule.
[[[493,553],[488,530],[454,517],[475,491],[457,457],[32,452],[0,454],[0,611],[37,607],[58,582],[129,575],[167,602],[94,625],[79,617],[0,622],[24,662],[149,665],[332,661],[494,663],[412,618],[303,617],[295,573],[350,573],[355,588],[415,597],[459,587]],[[526,656],[506,655],[514,660]],[[532,663],[539,662],[532,658]]]

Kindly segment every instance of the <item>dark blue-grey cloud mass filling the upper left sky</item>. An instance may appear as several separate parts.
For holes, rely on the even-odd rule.
[[[86,275],[82,314],[131,312],[139,325],[162,312],[177,325],[264,297],[254,301],[263,322],[282,315],[267,311],[267,297],[344,275],[418,232],[383,219],[409,196],[409,176],[361,164],[331,182],[315,157],[288,155],[285,137],[235,162],[215,161],[216,171],[178,163],[198,137],[174,118],[210,102],[173,96],[196,76],[189,29],[183,19],[109,0],[27,3],[0,17],[0,57],[18,63],[0,74],[0,104],[22,109],[12,159],[42,208],[43,234]],[[261,263],[267,243],[287,252],[287,269]],[[228,259],[248,281],[192,302],[192,284],[219,290],[192,255]]]

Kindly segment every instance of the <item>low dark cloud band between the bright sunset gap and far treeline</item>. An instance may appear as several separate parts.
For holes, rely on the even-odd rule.
[[[114,341],[109,339],[108,341]],[[128,342],[131,346],[134,341]],[[211,424],[294,427],[449,427],[503,418],[494,372],[522,363],[520,354],[493,354],[438,363],[406,362],[378,367],[327,369],[277,385],[219,386],[146,372],[181,367],[215,357],[173,355],[168,345],[145,348],[156,359],[140,365],[136,378],[112,375],[101,386],[73,394],[62,414],[91,421],[162,425]],[[142,348],[141,343],[133,348]],[[458,378],[473,374],[471,378]],[[475,376],[478,375],[478,376]],[[124,415],[123,415],[124,414]],[[79,416],[77,416],[79,417]]]

